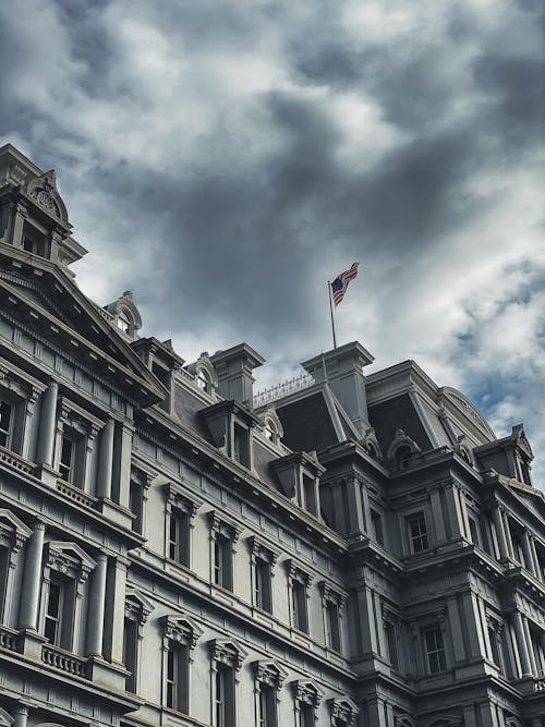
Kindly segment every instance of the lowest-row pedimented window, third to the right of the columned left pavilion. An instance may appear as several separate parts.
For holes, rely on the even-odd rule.
[[[214,727],[234,727],[237,700],[237,671],[246,652],[234,641],[214,639],[209,642],[211,655],[211,688]]]

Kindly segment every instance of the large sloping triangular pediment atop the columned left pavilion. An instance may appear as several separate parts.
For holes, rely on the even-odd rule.
[[[41,267],[0,268],[0,305],[41,338],[70,351],[73,358],[89,359],[97,371],[118,386],[130,389],[131,398],[145,405],[167,396],[159,380],[112,326],[109,314],[87,299],[73,280],[48,260]],[[100,366],[99,366],[100,364]]]

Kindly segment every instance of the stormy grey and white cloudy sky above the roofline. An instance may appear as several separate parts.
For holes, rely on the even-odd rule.
[[[541,0],[0,3],[0,143],[55,167],[145,335],[246,340],[263,387],[339,342],[416,360],[545,487]],[[538,484],[538,483],[536,483]]]

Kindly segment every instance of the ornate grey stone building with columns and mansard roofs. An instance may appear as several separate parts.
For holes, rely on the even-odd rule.
[[[545,727],[545,501],[412,361],[254,396],[77,288],[0,149],[0,727]]]

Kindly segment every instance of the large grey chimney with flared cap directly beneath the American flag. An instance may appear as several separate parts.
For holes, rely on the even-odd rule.
[[[374,358],[361,343],[352,341],[301,364],[316,383],[329,384],[362,437],[370,426],[363,367],[373,361]]]

